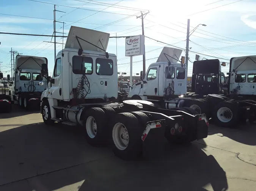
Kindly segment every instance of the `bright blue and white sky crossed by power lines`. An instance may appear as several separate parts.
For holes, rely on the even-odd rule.
[[[116,34],[117,36],[139,35],[141,34],[140,18],[132,16],[121,22],[116,21],[126,18],[127,15],[139,15],[139,9],[143,9],[150,11],[144,20],[144,32],[146,36],[153,39],[185,48],[186,24],[187,19],[190,18],[191,30],[200,23],[207,25],[200,26],[190,36],[189,47],[191,47],[191,51],[221,57],[223,59],[220,60],[223,62],[229,62],[228,60],[231,57],[253,55],[256,51],[256,1],[253,0],[241,0],[240,2],[237,2],[238,0],[179,0],[175,2],[158,0],[157,3],[148,0],[95,0],[96,2],[88,0],[39,1],[74,7],[57,7],[57,10],[66,12],[66,14],[61,12],[56,14],[56,18],[59,21],[69,21],[64,25],[64,32],[66,34],[68,34],[70,26],[73,25],[89,29],[98,28],[97,30],[99,31],[110,33],[110,36],[115,36]],[[108,7],[110,4],[115,3],[117,3],[115,6]],[[229,3],[232,4],[226,5]],[[0,32],[52,34],[53,5],[29,0],[0,0],[0,5]],[[105,9],[105,12],[85,9],[95,11]],[[89,17],[85,18],[87,16]],[[116,23],[106,25],[112,22]],[[61,23],[57,23],[56,29],[62,32]],[[4,75],[6,76],[9,73],[5,71],[10,70],[11,55],[9,51],[11,48],[24,55],[47,57],[49,71],[52,72],[54,63],[53,43],[45,43],[43,41],[50,41],[50,37],[0,34],[0,61],[2,61],[1,70],[5,73]],[[62,42],[62,39],[57,38],[57,42]],[[146,60],[146,68],[151,63],[156,62],[157,59],[152,58],[159,56],[163,46],[166,45],[145,38],[146,59],[151,59]],[[117,39],[117,47],[116,52],[116,39],[110,39],[107,51],[109,53],[117,53],[118,71],[129,74],[130,59],[125,57],[124,38]],[[61,45],[57,45],[57,51],[61,50],[61,48]],[[185,55],[185,52],[182,55]],[[201,56],[207,59],[212,58],[205,55]],[[189,57],[193,62],[195,60],[195,53],[190,52]],[[138,73],[142,70],[142,62],[138,62],[141,60],[142,55],[133,57],[133,62],[135,63],[133,64],[132,73]],[[222,68],[222,71],[227,72],[228,69],[226,66]],[[192,63],[189,62],[188,75],[191,73]]]

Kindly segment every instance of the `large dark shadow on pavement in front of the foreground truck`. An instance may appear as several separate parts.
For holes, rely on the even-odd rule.
[[[0,190],[226,190],[225,171],[200,147],[165,143],[159,156],[127,162],[88,145],[78,128],[25,125],[0,133]]]

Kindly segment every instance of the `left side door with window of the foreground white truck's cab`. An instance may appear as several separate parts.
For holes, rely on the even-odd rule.
[[[50,80],[51,88],[49,89],[50,95],[53,99],[62,100],[63,91],[62,91],[62,59],[57,57],[55,60],[54,70],[52,79]]]

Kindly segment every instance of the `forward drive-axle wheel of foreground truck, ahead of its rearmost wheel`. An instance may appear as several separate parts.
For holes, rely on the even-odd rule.
[[[108,121],[101,108],[90,108],[84,116],[85,139],[92,146],[104,146],[108,139]]]

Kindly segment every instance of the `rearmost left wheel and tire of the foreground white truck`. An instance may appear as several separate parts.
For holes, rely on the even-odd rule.
[[[116,115],[112,129],[112,146],[116,156],[123,160],[134,160],[142,154],[143,133],[141,124],[133,114]]]

